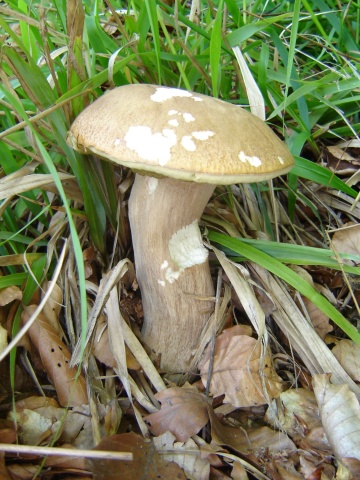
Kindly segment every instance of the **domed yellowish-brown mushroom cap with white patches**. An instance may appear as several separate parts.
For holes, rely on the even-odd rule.
[[[75,119],[67,142],[147,175],[219,185],[268,180],[294,165],[286,145],[243,108],[156,85],[105,93]]]

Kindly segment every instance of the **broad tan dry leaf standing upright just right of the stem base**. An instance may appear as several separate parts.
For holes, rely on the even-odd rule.
[[[224,403],[231,403],[235,407],[266,404],[263,379],[267,395],[270,398],[278,397],[281,393],[281,378],[272,366],[270,350],[267,350],[262,362],[260,355],[260,343],[248,335],[239,335],[237,328],[229,328],[226,333],[219,335],[210,381],[213,396],[225,394]],[[204,385],[207,383],[209,362],[206,361],[200,369]]]

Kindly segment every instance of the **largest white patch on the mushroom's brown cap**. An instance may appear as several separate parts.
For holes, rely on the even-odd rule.
[[[150,127],[129,127],[124,137],[126,146],[134,150],[143,160],[158,165],[166,165],[171,157],[171,148],[176,144],[175,132],[165,128],[152,133]]]

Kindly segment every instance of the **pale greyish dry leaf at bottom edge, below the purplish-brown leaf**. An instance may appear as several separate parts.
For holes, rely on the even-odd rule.
[[[166,432],[153,440],[163,460],[177,463],[189,478],[209,479],[210,462],[202,458],[202,453],[192,438],[186,442],[176,442],[175,436]]]

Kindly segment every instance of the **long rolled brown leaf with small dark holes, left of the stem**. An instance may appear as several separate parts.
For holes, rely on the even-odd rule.
[[[25,324],[36,310],[36,305],[24,308],[21,320]],[[46,373],[56,389],[62,406],[87,404],[86,384],[82,375],[75,381],[77,369],[70,367],[71,355],[54,332],[47,318],[40,314],[29,329],[29,335],[38,350]]]

